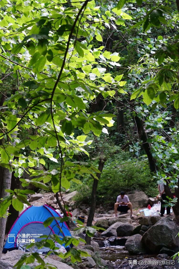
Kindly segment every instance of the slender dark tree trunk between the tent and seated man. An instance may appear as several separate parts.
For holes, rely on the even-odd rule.
[[[105,161],[106,161],[105,158],[100,158],[100,160],[99,160],[98,170],[100,172],[103,171]],[[101,173],[97,173],[96,176],[98,179],[96,179],[92,176],[93,177],[93,189],[92,189],[92,195],[91,195],[91,208],[90,208],[90,212],[89,212],[89,216],[88,216],[88,220],[87,220],[87,224],[86,224],[86,226],[88,226],[88,227],[92,225],[93,218],[94,218],[94,212],[95,212],[95,208],[96,208],[96,190],[97,190],[97,186],[98,186],[98,182],[99,182]],[[87,234],[85,236],[85,240],[86,240],[87,245],[91,245],[91,237],[89,237]]]

